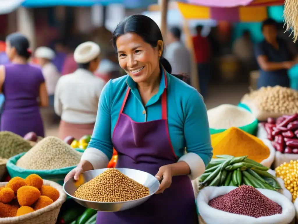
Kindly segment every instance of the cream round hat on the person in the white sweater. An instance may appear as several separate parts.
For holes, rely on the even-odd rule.
[[[100,54],[100,47],[98,44],[88,41],[80,44],[75,49],[74,59],[79,64],[85,64],[96,59]]]

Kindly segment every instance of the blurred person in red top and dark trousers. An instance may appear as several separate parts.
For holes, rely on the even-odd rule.
[[[200,91],[202,96],[206,97],[210,79],[210,44],[206,37],[201,36],[203,27],[197,26],[195,29],[197,34],[193,37],[193,50],[195,51],[195,61],[198,67]]]

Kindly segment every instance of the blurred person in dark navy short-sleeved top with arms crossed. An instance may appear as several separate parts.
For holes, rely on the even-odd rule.
[[[296,64],[286,42],[277,37],[277,23],[266,19],[262,23],[264,40],[255,45],[255,56],[260,66],[257,88],[262,86],[289,87],[287,70]]]

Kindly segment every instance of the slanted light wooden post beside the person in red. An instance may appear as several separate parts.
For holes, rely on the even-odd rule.
[[[186,43],[188,50],[190,51],[190,56],[191,56],[190,84],[199,91],[200,90],[199,77],[198,77],[197,64],[195,63],[195,52],[193,49],[193,39],[192,39],[192,35],[190,33],[189,26],[185,19],[183,20],[183,30],[184,30],[185,37],[186,37],[185,43]]]

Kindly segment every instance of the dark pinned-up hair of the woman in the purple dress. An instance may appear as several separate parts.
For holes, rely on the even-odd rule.
[[[6,41],[14,47],[18,55],[24,57],[26,60],[30,58],[31,51],[29,50],[29,40],[21,33],[12,33],[6,37]]]

